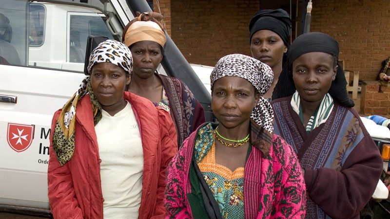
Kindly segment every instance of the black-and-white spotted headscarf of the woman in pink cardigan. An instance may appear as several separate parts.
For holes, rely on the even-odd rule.
[[[272,69],[248,55],[231,54],[223,56],[216,63],[210,75],[211,88],[216,80],[224,76],[237,76],[253,84],[261,97],[252,111],[251,118],[260,127],[273,133],[273,110],[270,102],[263,97],[273,81]]]

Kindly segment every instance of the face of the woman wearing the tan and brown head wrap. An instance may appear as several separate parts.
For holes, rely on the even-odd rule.
[[[134,43],[130,51],[133,55],[133,76],[142,79],[151,77],[162,60],[160,45],[152,41],[140,41]]]

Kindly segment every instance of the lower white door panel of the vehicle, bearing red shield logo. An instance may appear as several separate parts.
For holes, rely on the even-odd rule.
[[[78,90],[84,77],[82,73],[1,66],[0,95],[18,98],[17,103],[0,102],[0,185],[14,188],[0,190],[0,197],[7,197],[1,198],[1,203],[18,205],[22,201],[24,206],[48,208],[47,167],[52,116]],[[22,151],[11,146],[10,138],[15,135],[9,133],[10,124],[33,125],[30,146]],[[20,130],[22,128],[20,126]],[[22,134],[14,132],[17,135],[14,143],[20,136],[24,136],[20,144],[27,144],[31,138],[26,129]]]

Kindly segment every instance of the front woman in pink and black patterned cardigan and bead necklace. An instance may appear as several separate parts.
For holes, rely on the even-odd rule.
[[[262,97],[271,68],[247,55],[222,57],[211,73],[212,109],[167,168],[170,218],[303,218],[305,184],[291,146],[273,134]]]

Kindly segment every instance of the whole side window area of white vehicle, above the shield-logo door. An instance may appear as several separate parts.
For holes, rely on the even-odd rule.
[[[0,5],[0,64],[83,73],[87,37],[114,38],[95,8],[28,0]]]

